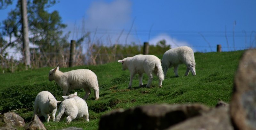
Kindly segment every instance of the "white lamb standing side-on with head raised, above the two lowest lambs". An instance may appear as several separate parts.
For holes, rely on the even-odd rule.
[[[84,100],[86,100],[91,90],[94,90],[95,100],[100,98],[100,89],[98,79],[95,73],[89,69],[76,69],[68,72],[61,72],[60,67],[55,67],[49,72],[49,81],[55,80],[63,89],[63,96],[69,94],[74,89],[84,89],[86,91]]]

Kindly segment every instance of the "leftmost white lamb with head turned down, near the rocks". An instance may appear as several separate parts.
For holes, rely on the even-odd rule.
[[[34,115],[44,116],[47,122],[50,121],[49,114],[52,113],[52,119],[55,119],[55,114],[57,112],[57,101],[54,96],[48,91],[41,91],[37,94],[34,102]]]

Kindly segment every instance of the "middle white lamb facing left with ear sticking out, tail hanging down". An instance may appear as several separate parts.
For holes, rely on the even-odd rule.
[[[142,83],[142,75],[146,73],[148,75],[148,84],[146,87],[150,87],[153,79],[153,73],[157,75],[159,79],[159,87],[162,88],[162,82],[164,80],[164,73],[161,66],[161,60],[154,55],[135,55],[133,57],[126,57],[118,62],[122,63],[123,70],[130,70],[130,83],[129,88],[132,87],[132,78],[135,74],[139,74],[139,85]]]

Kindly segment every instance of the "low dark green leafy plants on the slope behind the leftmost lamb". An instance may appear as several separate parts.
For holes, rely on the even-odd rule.
[[[12,89],[5,89],[0,92],[0,105],[1,112],[9,112],[15,109],[26,109],[27,111],[33,111],[33,105],[36,95],[41,91],[49,91],[52,95],[60,100],[62,95],[62,89],[58,85],[50,84],[35,84],[28,86],[13,86]],[[56,97],[59,96],[59,97]]]

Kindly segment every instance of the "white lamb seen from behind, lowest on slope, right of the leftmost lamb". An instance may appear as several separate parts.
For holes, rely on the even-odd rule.
[[[67,116],[67,123],[70,123],[73,119],[84,117],[86,121],[89,121],[88,107],[84,99],[76,96],[77,93],[67,96],[62,96],[65,100],[60,104],[60,111],[56,116],[55,122],[61,121]]]

